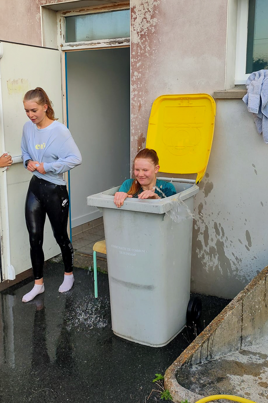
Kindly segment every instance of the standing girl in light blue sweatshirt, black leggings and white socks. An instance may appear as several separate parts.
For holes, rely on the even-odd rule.
[[[69,196],[63,173],[80,165],[82,157],[70,131],[54,116],[45,91],[27,91],[23,104],[30,119],[23,126],[21,153],[23,164],[33,173],[25,201],[25,219],[30,239],[30,256],[35,284],[23,296],[31,301],[45,291],[43,284],[43,235],[46,214],[64,262],[64,281],[59,292],[72,288],[74,249],[67,233]]]

